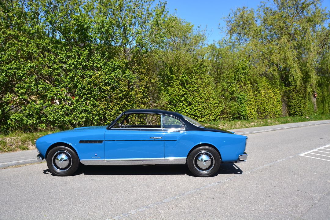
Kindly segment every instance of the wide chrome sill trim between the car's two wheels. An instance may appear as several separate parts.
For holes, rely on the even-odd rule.
[[[80,160],[84,165],[153,165],[153,164],[185,164],[186,157],[165,158],[128,158],[128,159],[86,159]]]

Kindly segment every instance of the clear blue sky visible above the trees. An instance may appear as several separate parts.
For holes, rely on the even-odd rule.
[[[261,0],[167,0],[169,12],[175,13],[178,17],[205,28],[207,26],[208,43],[219,40],[224,33],[218,29],[225,27],[223,17],[228,16],[230,9],[246,6],[257,8]],[[330,10],[330,0],[323,0],[322,7]]]

